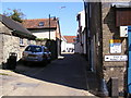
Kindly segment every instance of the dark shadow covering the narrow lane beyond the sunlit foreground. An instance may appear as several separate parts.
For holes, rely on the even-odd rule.
[[[63,54],[62,57],[64,59],[55,60],[46,66],[17,65],[16,72],[40,81],[86,90],[86,61],[78,54]]]

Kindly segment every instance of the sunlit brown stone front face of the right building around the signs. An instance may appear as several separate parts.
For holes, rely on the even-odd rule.
[[[109,3],[103,3],[102,8],[102,20],[103,20],[103,68],[104,68],[104,78],[106,82],[110,77],[119,78],[119,91],[123,90],[124,84],[124,72],[127,62],[115,62],[115,61],[105,61],[105,56],[123,56],[127,52],[127,39],[120,38],[119,28],[116,27],[115,21],[115,8],[110,8]],[[109,40],[110,39],[120,39],[121,40],[121,53],[110,53]]]

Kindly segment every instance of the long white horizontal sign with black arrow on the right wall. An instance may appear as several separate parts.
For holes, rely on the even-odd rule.
[[[128,61],[128,56],[105,56],[105,61]]]

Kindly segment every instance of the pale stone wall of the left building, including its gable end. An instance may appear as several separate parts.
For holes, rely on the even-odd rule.
[[[15,52],[17,54],[17,61],[22,58],[22,52],[27,47],[27,45],[36,45],[35,40],[23,38],[23,44],[20,44],[20,37],[13,36],[11,30],[2,24],[2,29],[0,33],[0,64],[7,63],[10,52]]]

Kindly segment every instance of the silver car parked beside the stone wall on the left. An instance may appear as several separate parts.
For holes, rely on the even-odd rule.
[[[24,62],[50,62],[51,52],[45,46],[29,45],[23,51]]]

